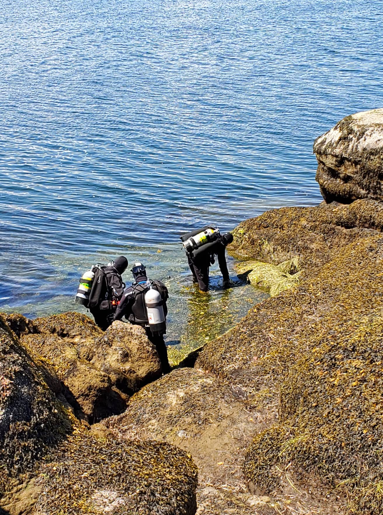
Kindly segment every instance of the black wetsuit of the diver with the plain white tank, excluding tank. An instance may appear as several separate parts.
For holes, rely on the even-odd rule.
[[[170,372],[170,365],[167,356],[167,350],[163,335],[153,335],[149,328],[148,315],[145,305],[145,293],[148,290],[147,277],[140,276],[136,278],[136,282],[126,288],[124,295],[118,304],[114,320],[121,320],[125,316],[130,323],[141,325],[145,328],[149,340],[154,344],[157,349],[160,361],[162,363],[162,370],[164,374]],[[152,281],[154,289],[159,291],[162,300],[164,301],[164,315],[167,315],[166,301],[169,297],[168,290],[164,283],[161,281]]]

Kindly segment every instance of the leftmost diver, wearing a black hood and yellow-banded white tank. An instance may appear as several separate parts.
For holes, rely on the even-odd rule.
[[[106,331],[113,322],[125,288],[121,274],[127,266],[128,260],[125,256],[118,256],[107,266],[99,263],[93,265],[80,279],[75,302],[89,308],[95,323],[102,331]]]

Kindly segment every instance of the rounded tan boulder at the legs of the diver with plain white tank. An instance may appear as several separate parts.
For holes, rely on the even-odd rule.
[[[161,375],[158,352],[145,329],[119,320],[95,341],[91,363],[106,372],[120,390],[129,394]]]

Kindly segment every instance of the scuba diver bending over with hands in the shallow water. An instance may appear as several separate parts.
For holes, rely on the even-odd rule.
[[[208,290],[209,268],[214,264],[216,257],[222,273],[223,287],[230,286],[225,249],[233,241],[231,232],[220,234],[216,227],[206,226],[203,229],[183,234],[181,240],[186,250],[189,268],[193,273],[193,282],[198,283],[201,291]]]

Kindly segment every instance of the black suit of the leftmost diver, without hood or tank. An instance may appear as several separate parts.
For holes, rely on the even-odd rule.
[[[102,331],[106,331],[113,322],[117,302],[122,297],[124,288],[125,283],[113,266],[96,270],[89,296],[89,311]]]

